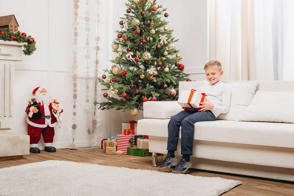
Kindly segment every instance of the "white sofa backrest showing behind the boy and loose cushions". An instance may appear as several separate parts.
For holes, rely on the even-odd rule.
[[[206,81],[205,81],[206,82]],[[248,81],[222,81],[224,83],[243,83]],[[191,89],[198,89],[199,86],[205,84],[204,81],[179,82],[179,93],[181,91],[190,91]],[[294,81],[258,81],[257,91],[294,91]]]

